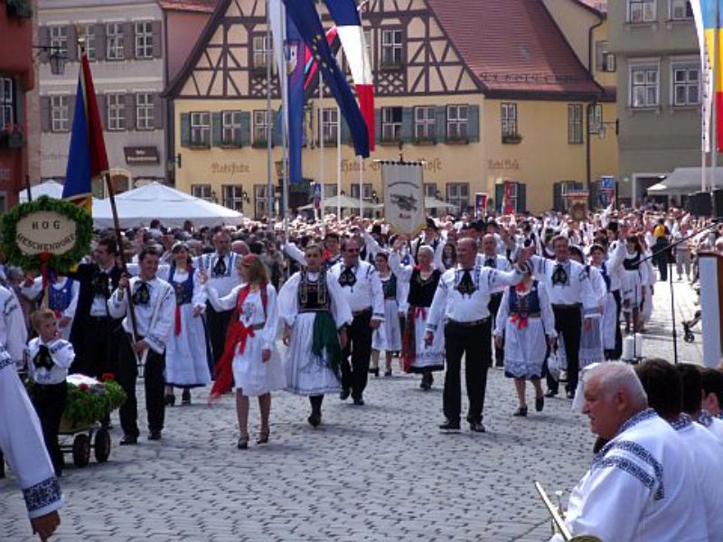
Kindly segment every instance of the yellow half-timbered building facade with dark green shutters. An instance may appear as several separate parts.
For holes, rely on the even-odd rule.
[[[475,0],[480,2],[484,4]],[[221,1],[186,67],[166,91],[174,107],[176,187],[256,217],[268,214],[266,126],[277,116],[266,113],[264,4]],[[541,0],[539,4],[546,9]],[[376,151],[362,161],[360,175],[360,161],[343,121],[340,126],[333,98],[320,100],[315,93],[305,113],[306,180],[323,181],[326,196],[335,194],[340,182],[346,195],[358,199],[362,191],[364,204],[371,205],[383,194],[377,161],[396,160],[401,152],[404,160],[425,162],[427,196],[459,210],[470,210],[475,192],[485,192],[499,204],[502,183],[514,182],[517,209],[540,212],[556,204],[555,187],[561,182],[585,185],[588,167],[591,180],[615,173],[615,130],[610,129],[615,104],[599,101],[604,89],[591,74],[573,67],[587,79],[584,89],[570,90],[557,89],[565,86],[568,75],[529,71],[534,66],[483,71],[480,59],[471,59],[457,43],[465,36],[446,23],[448,9],[436,0],[370,3],[363,21],[375,78]],[[574,2],[570,11],[587,23],[589,11]],[[604,25],[596,29],[600,31]],[[572,58],[566,61],[574,62],[573,48],[567,47]],[[525,88],[515,89],[520,82]],[[276,112],[276,76],[271,92]],[[593,119],[589,123],[588,115]],[[272,134],[270,171],[279,191],[282,156],[278,130]],[[338,148],[337,136],[342,139]],[[290,207],[310,199],[308,186],[301,193],[292,190]]]

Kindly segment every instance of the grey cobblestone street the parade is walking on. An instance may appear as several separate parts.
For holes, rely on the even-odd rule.
[[[700,326],[694,343],[682,341],[681,320],[697,308],[692,289],[674,287],[680,360],[700,362]],[[658,285],[644,354],[672,360],[671,335],[668,287]],[[512,417],[512,382],[491,369],[488,432],[463,425],[442,435],[441,374],[426,393],[417,377],[395,372],[371,377],[366,406],[326,397],[318,429],[305,421],[305,398],[278,392],[270,443],[252,441],[248,451],[235,447],[232,397],[209,408],[208,390],[166,411],[160,443],[143,432],[139,445],[117,447],[115,417],[108,463],[64,472],[53,540],[546,540],[549,517],[533,481],[566,495],[577,483],[592,458],[585,418],[559,398],[540,415]],[[258,430],[255,402],[251,420]],[[32,539],[12,473],[0,500],[0,539]]]

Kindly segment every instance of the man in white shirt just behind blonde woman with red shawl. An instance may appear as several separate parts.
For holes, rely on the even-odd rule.
[[[225,229],[218,229],[213,234],[213,248],[216,249],[215,252],[197,257],[193,266],[207,273],[208,285],[213,286],[219,296],[223,297],[240,284],[239,274],[236,272],[236,258],[239,255],[231,252],[231,236]],[[213,362],[213,367],[209,368],[211,376],[216,374],[216,363],[223,354],[231,313],[232,310],[216,311],[211,303],[206,303],[206,325]]]

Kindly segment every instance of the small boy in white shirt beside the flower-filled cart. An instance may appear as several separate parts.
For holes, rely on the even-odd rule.
[[[31,316],[38,336],[28,343],[28,372],[33,382],[30,396],[42,426],[45,448],[51,456],[55,475],[62,472],[62,453],[58,444],[68,384],[65,378],[75,358],[70,342],[60,337],[58,321],[50,309],[40,309]]]

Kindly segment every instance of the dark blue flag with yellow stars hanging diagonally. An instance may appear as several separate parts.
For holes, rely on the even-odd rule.
[[[326,41],[324,28],[316,14],[314,0],[284,0],[286,5],[286,14],[294,24],[296,29],[311,49],[319,68],[324,75],[324,82],[329,87],[336,103],[342,111],[342,116],[346,119],[346,124],[352,133],[352,141],[354,151],[357,155],[366,158],[369,156],[369,135],[367,125],[362,117],[362,111],[356,103],[352,94],[352,89],[346,82],[339,64],[333,57],[332,49]],[[289,106],[290,108],[291,106]]]

